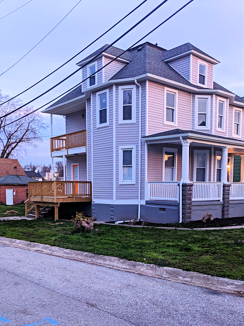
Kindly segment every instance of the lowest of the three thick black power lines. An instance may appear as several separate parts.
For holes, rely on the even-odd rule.
[[[186,6],[188,6],[191,2],[193,2],[194,0],[190,0],[188,1],[184,6],[182,6],[180,9],[178,9],[177,11],[175,11],[171,16],[169,16],[166,20],[164,20],[163,22],[161,22],[159,25],[157,25],[154,29],[152,29],[149,33],[147,33],[146,35],[144,35],[140,40],[138,40],[136,43],[134,43],[133,45],[131,45],[127,50],[123,51],[120,55],[118,55],[117,57],[115,57],[113,60],[111,60],[109,63],[107,63],[106,65],[104,65],[102,68],[98,69],[97,71],[95,71],[92,75],[90,75],[89,77],[87,77],[86,79],[84,79],[82,82],[76,84],[74,87],[70,88],[68,91],[66,91],[65,93],[61,94],[60,96],[68,93],[69,91],[71,91],[72,89],[74,89],[75,87],[79,86],[81,83],[83,83],[84,81],[86,81],[88,78],[90,78],[91,76],[94,76],[98,71],[102,70],[104,67],[108,66],[111,62],[113,62],[114,60],[116,60],[118,57],[120,57],[123,53],[127,52],[128,50],[130,50],[132,47],[134,47],[137,43],[141,42],[143,40],[143,38],[147,37],[148,35],[150,35],[151,33],[153,33],[157,28],[159,28],[160,26],[162,26],[165,22],[167,22],[170,18],[172,18],[173,16],[175,16],[179,11],[181,11],[183,8],[185,8]],[[23,117],[20,117],[19,119],[16,119],[10,123],[8,123],[7,125],[3,126],[6,127],[8,125],[11,125],[12,123],[25,118],[26,116],[34,113],[35,111],[43,108],[44,106],[46,106],[47,104],[53,102],[54,100],[56,100],[57,98],[59,98],[60,96],[56,97],[55,99],[53,99],[52,101],[44,104],[43,106],[41,106],[38,109],[35,109],[32,112],[27,113],[26,115],[24,115]]]

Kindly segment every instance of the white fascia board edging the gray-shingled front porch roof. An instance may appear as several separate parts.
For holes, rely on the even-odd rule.
[[[209,140],[213,141],[214,143],[224,143],[224,144],[231,144],[231,145],[237,145],[237,146],[244,146],[243,141],[238,141],[238,140],[231,140],[231,139],[222,139],[222,138],[216,138],[216,137],[211,137],[211,136],[205,136],[205,135],[197,135],[197,134],[191,134],[191,133],[185,133],[185,134],[178,134],[178,135],[168,135],[168,136],[158,136],[158,137],[147,137],[147,138],[142,138],[141,140],[150,142],[153,140],[160,140],[160,139],[176,139],[180,137],[187,137],[190,139],[194,140]]]

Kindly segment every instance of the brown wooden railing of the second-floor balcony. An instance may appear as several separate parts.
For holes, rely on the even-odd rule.
[[[86,130],[72,132],[70,134],[52,137],[51,152],[74,147],[86,146]]]

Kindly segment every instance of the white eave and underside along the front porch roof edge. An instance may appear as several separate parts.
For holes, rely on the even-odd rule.
[[[192,134],[192,133],[183,133],[183,134],[177,134],[177,135],[166,135],[166,136],[158,136],[158,137],[142,137],[141,140],[147,141],[148,143],[150,142],[155,142],[159,140],[166,140],[166,139],[171,139],[173,140],[179,140],[180,137],[182,138],[187,138],[190,140],[197,140],[197,141],[205,141],[206,143],[218,143],[222,145],[230,145],[234,146],[240,149],[243,149],[244,147],[244,142],[243,141],[238,141],[235,139],[224,139],[224,138],[217,138],[217,137],[211,137],[211,136],[206,136],[206,135],[197,135],[197,134]]]

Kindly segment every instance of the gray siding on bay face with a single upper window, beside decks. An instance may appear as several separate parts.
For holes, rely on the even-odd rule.
[[[109,88],[109,126],[96,126],[93,93],[93,199],[113,200],[113,87]]]

